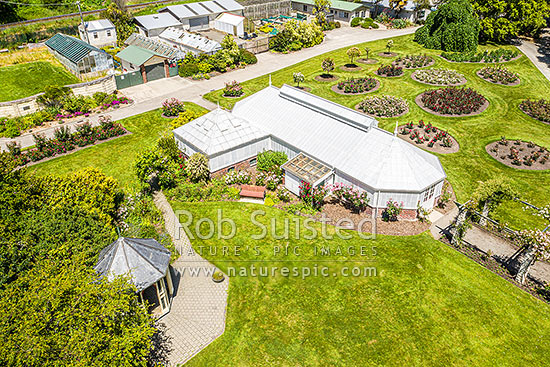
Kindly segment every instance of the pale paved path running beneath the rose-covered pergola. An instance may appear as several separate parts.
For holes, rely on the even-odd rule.
[[[458,215],[458,208],[454,208],[430,226],[430,232],[435,239],[440,239],[449,233],[451,224]],[[464,236],[464,242],[476,247],[484,253],[491,252],[491,256],[500,263],[506,263],[518,250],[510,241],[495,236],[476,226],[472,226]],[[550,264],[537,261],[529,269],[529,275],[542,282],[550,283]]]

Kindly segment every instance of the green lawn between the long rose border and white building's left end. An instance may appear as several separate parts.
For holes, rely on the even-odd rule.
[[[193,103],[185,103],[185,107],[205,111]],[[132,134],[39,163],[31,166],[29,171],[38,175],[65,174],[84,167],[98,167],[105,174],[116,178],[121,186],[131,185],[136,182],[133,162],[137,154],[170,131],[171,121],[163,118],[161,113],[159,109],[123,119],[119,122]]]

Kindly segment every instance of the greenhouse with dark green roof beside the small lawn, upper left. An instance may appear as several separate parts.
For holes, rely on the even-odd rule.
[[[78,38],[57,33],[45,44],[63,66],[79,78],[98,76],[114,68],[111,55]]]

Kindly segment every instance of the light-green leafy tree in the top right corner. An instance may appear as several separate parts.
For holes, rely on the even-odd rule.
[[[471,0],[481,25],[482,40],[503,42],[519,35],[536,36],[550,11],[540,0]]]

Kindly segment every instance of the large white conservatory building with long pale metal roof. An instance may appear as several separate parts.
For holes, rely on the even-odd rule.
[[[184,154],[208,157],[213,173],[280,151],[289,158],[285,186],[294,194],[302,181],[341,183],[367,192],[375,208],[392,199],[411,213],[419,205],[432,209],[446,177],[435,155],[378,128],[373,117],[288,85],[269,86],[231,112],[218,108],[173,133]]]

